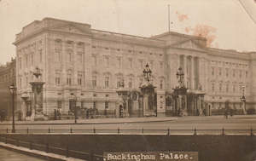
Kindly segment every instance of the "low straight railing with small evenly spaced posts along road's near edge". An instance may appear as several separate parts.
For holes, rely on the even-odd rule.
[[[101,135],[254,135],[256,129],[15,129],[16,134],[101,134]],[[0,134],[9,134],[11,129],[0,129]]]

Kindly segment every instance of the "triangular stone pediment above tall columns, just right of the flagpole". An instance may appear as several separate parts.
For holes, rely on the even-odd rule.
[[[175,43],[172,44],[172,47],[174,48],[180,48],[180,49],[192,49],[192,50],[197,50],[197,51],[206,51],[201,45],[198,43],[195,43],[192,39],[180,42],[180,43]]]

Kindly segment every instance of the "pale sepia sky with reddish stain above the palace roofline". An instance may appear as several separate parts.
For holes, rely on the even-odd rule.
[[[168,4],[172,32],[193,35],[202,27],[212,48],[256,51],[255,0],[0,0],[0,64],[15,57],[15,34],[33,20],[151,37],[168,32]]]

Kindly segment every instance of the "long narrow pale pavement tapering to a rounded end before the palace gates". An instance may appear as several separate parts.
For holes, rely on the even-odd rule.
[[[77,124],[125,124],[168,122],[177,120],[175,117],[144,117],[144,118],[90,118],[77,119]],[[3,121],[1,124],[12,124],[12,121]],[[73,119],[47,121],[15,121],[15,124],[75,124]]]

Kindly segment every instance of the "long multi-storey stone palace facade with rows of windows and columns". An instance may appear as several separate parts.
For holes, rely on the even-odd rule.
[[[211,106],[212,112],[224,108],[225,101],[239,110],[242,89],[247,108],[256,107],[256,53],[207,48],[203,37],[177,32],[137,37],[44,18],[24,26],[14,44],[17,108],[23,118],[32,111],[35,68],[44,83],[41,103],[45,116],[53,115],[56,109],[68,115],[73,101],[80,109],[119,116],[120,84],[124,90],[139,91],[146,64],[152,71],[158,116],[166,114],[166,106],[172,106],[166,95],[177,86],[178,67],[183,68],[188,92],[203,94],[204,104]],[[131,116],[139,102],[135,97],[130,104]]]

